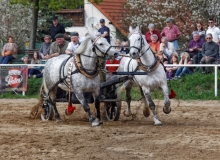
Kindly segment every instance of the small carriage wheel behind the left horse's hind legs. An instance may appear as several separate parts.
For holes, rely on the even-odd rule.
[[[52,120],[54,118],[54,109],[50,102],[43,104],[42,106],[44,113],[41,114],[41,119],[43,121]]]

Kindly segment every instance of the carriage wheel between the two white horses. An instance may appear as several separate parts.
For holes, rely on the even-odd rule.
[[[117,121],[121,113],[121,91],[117,89],[117,102],[105,102],[105,115],[108,121]]]

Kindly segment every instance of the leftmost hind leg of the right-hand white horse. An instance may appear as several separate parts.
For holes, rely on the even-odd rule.
[[[132,82],[126,81],[124,84],[125,88],[125,96],[126,96],[126,102],[127,102],[127,108],[123,112],[124,116],[129,117],[131,116],[131,88],[132,88]]]

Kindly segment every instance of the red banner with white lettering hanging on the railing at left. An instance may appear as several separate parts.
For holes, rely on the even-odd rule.
[[[27,66],[0,66],[0,91],[26,91]]]

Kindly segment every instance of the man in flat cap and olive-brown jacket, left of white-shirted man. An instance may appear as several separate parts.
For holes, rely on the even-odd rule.
[[[65,54],[65,51],[68,47],[69,42],[64,40],[64,36],[61,33],[58,33],[55,36],[56,41],[53,42],[50,46],[50,55],[49,58],[59,56],[60,54]]]

